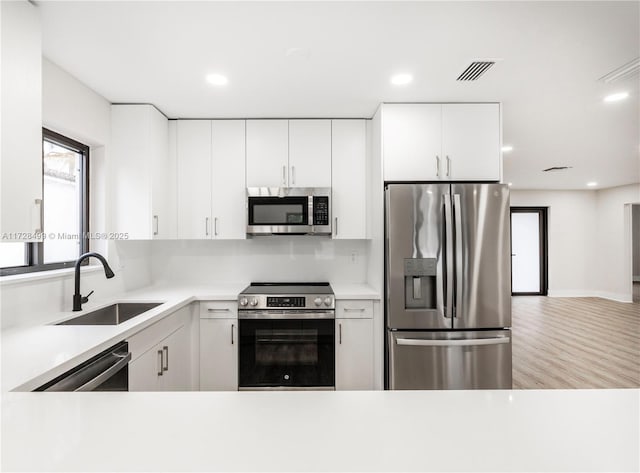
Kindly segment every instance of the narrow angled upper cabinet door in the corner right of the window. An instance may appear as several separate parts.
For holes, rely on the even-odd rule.
[[[154,239],[166,240],[176,237],[175,152],[169,150],[169,121],[155,107],[147,107],[150,107],[151,233]],[[172,141],[175,146],[175,140]]]

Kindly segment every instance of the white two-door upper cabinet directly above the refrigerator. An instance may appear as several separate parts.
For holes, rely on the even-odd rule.
[[[500,104],[385,104],[385,181],[499,181]]]

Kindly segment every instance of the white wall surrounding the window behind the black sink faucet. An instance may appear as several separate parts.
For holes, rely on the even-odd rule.
[[[111,104],[52,62],[43,59],[42,66],[43,126],[90,145],[90,229],[104,231],[109,222],[109,189],[114,185],[109,182],[108,165]],[[107,280],[102,271],[87,273],[82,277],[83,294],[95,290],[95,300],[151,283],[150,243],[92,240],[90,248],[107,257],[116,277]],[[23,277],[18,282],[3,278],[0,296],[3,329],[35,323],[38,314],[71,309],[73,274]]]

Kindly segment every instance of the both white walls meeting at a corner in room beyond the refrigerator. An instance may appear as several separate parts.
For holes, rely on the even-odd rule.
[[[549,207],[550,296],[632,300],[628,204],[636,202],[638,184],[598,191],[511,192],[511,206]]]

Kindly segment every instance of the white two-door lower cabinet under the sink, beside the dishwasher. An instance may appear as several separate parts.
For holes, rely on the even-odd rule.
[[[129,391],[191,389],[190,320],[184,308],[129,338]]]

